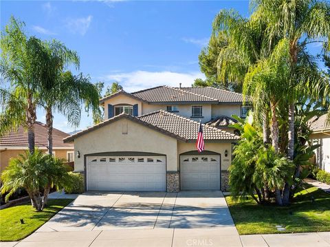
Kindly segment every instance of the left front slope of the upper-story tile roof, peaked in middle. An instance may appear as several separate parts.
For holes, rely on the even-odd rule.
[[[150,89],[144,89],[138,92],[133,92],[133,96],[141,98],[149,103],[162,103],[162,102],[206,102],[218,103],[217,98],[212,98],[194,92],[188,92],[175,87],[160,86]]]

